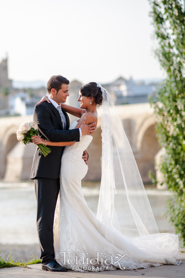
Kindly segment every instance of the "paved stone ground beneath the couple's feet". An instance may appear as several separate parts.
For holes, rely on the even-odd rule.
[[[49,272],[42,271],[41,264],[29,265],[24,267],[11,267],[0,269],[1,278],[185,278],[185,253],[181,253],[183,259],[180,265],[162,265],[159,267],[141,268],[138,270],[120,270],[103,272]],[[61,275],[61,276],[59,276]]]

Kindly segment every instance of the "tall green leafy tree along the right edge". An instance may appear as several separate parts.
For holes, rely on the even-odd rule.
[[[161,171],[173,192],[168,201],[170,221],[185,243],[185,13],[183,1],[152,1],[156,57],[165,81],[151,100],[157,115],[157,136],[166,154]]]

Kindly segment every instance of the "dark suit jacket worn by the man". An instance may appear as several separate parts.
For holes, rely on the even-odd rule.
[[[80,141],[79,129],[69,130],[69,117],[62,109],[66,118],[66,128],[64,130],[61,116],[52,103],[44,101],[35,107],[33,120],[38,124],[39,136],[53,142]],[[51,149],[46,157],[36,148],[33,158],[31,179],[35,177],[57,179],[60,176],[61,157],[65,147],[48,146]]]

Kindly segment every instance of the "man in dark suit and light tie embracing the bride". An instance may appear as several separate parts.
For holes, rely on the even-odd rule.
[[[47,83],[49,101],[35,107],[33,120],[38,124],[39,136],[53,142],[79,142],[82,135],[92,135],[96,127],[86,125],[86,118],[80,128],[69,130],[69,117],[61,108],[69,96],[69,80],[61,75],[52,76]],[[49,146],[51,153],[46,157],[36,148],[33,158],[31,179],[34,179],[37,200],[37,232],[39,237],[42,270],[67,271],[55,260],[53,247],[53,222],[60,190],[61,157],[65,147]],[[84,151],[83,159],[87,160]],[[85,162],[84,162],[85,163]]]

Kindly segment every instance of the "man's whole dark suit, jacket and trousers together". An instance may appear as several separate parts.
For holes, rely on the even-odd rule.
[[[38,124],[39,136],[53,142],[80,141],[79,129],[69,130],[69,117],[64,130],[60,113],[52,103],[44,101],[35,107],[33,120]],[[60,189],[61,157],[64,147],[48,146],[51,153],[46,157],[36,148],[33,158],[31,179],[35,182],[37,199],[37,232],[42,263],[54,261],[53,221],[57,197]]]

